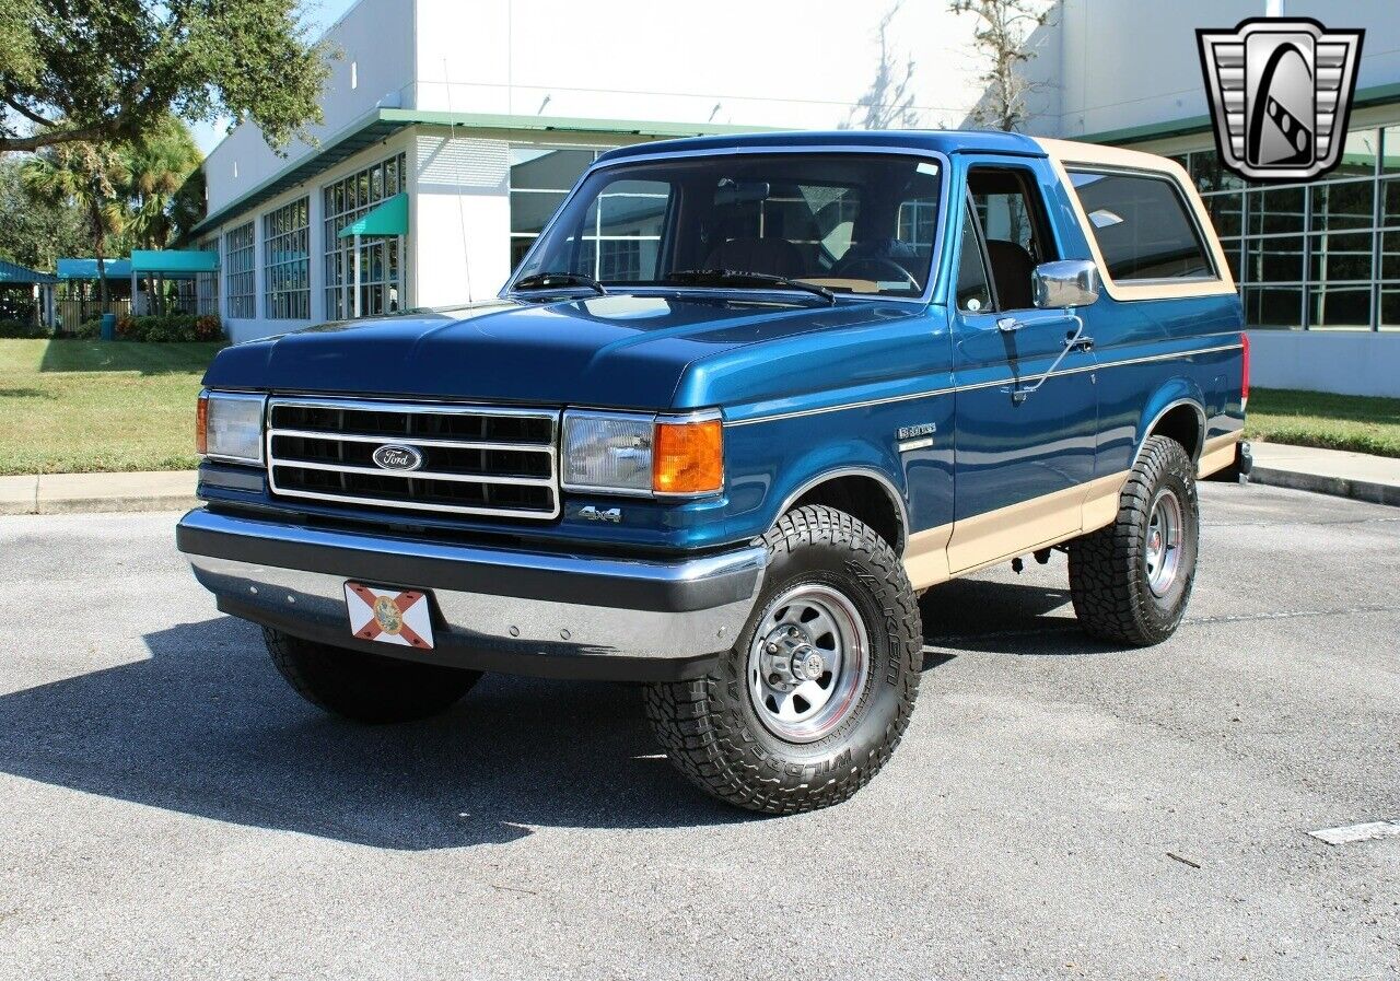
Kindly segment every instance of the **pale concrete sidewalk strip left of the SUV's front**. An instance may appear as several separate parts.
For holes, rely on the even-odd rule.
[[[179,511],[199,504],[195,470],[0,477],[0,515]]]

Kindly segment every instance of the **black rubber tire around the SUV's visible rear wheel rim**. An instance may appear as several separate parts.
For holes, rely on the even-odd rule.
[[[1182,505],[1182,554],[1175,581],[1158,596],[1148,585],[1147,542],[1152,507],[1163,491]],[[1198,549],[1196,466],[1182,444],[1148,437],[1119,497],[1114,522],[1070,543],[1070,593],[1079,626],[1113,644],[1161,644],[1186,614]]]

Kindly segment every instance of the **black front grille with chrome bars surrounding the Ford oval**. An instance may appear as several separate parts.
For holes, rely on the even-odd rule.
[[[379,508],[549,519],[559,516],[559,413],[469,404],[273,399],[267,479],[280,497]],[[375,463],[409,446],[413,470]]]

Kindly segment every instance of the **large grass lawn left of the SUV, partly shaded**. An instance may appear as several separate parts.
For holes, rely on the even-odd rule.
[[[193,467],[220,347],[0,339],[0,474]]]

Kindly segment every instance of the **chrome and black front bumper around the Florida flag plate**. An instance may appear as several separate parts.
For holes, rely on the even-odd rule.
[[[232,616],[386,656],[517,675],[668,680],[704,675],[753,609],[767,553],[675,561],[542,554],[298,528],[190,511],[176,546]],[[435,648],[357,641],[344,582],[433,598]]]

